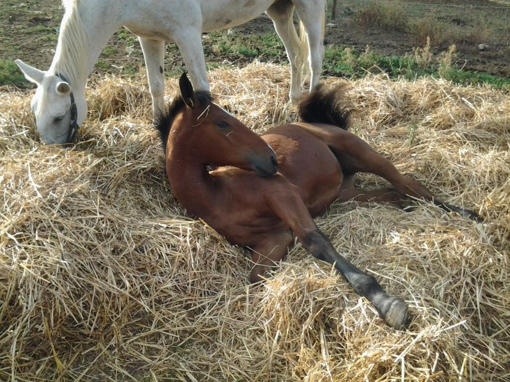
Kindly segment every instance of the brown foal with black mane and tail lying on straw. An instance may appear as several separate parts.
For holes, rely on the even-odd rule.
[[[346,131],[348,115],[338,89],[319,87],[299,105],[303,122],[275,127],[259,137],[215,105],[209,93],[194,92],[186,74],[179,83],[181,96],[158,123],[168,179],[189,212],[231,243],[251,248],[255,265],[250,282],[260,281],[269,266],[284,258],[296,235],[313,256],[335,264],[389,325],[405,329],[409,319],[402,299],[388,295],[375,278],[338,254],[312,216],[336,199],[403,207],[413,202],[409,197],[474,220],[478,215],[434,198]],[[208,171],[208,166],[228,167]],[[357,172],[381,176],[394,188],[354,188]]]

